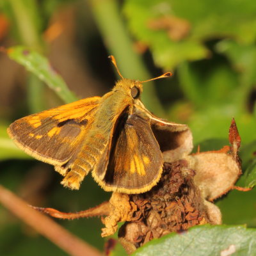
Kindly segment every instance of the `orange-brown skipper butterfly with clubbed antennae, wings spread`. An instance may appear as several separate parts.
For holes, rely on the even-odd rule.
[[[27,154],[54,165],[65,187],[79,189],[92,172],[106,191],[143,193],[156,185],[163,170],[154,131],[188,127],[157,118],[140,100],[143,83],[170,72],[147,81],[126,79],[110,58],[121,77],[111,92],[20,118],[8,134]]]

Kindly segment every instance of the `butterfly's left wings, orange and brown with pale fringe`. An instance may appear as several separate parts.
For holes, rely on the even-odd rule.
[[[100,97],[82,99],[20,118],[10,125],[8,134],[27,154],[54,164],[58,170],[79,150],[99,100]]]

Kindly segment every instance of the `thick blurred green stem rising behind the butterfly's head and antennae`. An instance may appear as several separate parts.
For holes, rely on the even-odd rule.
[[[90,0],[90,5],[106,47],[115,56],[123,76],[140,80],[150,78],[143,61],[132,47],[131,37],[120,15],[118,1]],[[142,100],[148,109],[157,115],[164,116],[164,110],[157,98],[153,83],[145,84]]]

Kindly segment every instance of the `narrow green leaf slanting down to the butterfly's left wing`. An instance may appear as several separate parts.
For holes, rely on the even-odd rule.
[[[8,49],[8,55],[12,60],[17,61],[44,81],[65,103],[77,100],[62,77],[53,70],[49,61],[38,52],[30,51],[23,46],[16,46]]]

